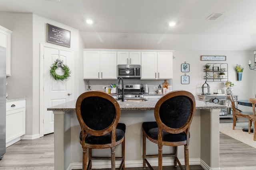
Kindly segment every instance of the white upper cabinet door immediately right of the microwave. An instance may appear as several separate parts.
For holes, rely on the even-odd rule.
[[[141,79],[156,79],[157,53],[141,53]]]

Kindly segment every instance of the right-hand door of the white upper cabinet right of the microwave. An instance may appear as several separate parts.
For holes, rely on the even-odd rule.
[[[157,54],[158,64],[158,79],[171,79],[173,78],[173,66],[172,66],[172,53],[158,53]]]

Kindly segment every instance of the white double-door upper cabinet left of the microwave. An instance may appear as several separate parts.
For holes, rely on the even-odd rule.
[[[84,79],[117,79],[116,51],[84,50]]]

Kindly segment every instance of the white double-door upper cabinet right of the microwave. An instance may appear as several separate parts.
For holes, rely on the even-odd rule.
[[[141,79],[171,79],[172,52],[142,52]]]

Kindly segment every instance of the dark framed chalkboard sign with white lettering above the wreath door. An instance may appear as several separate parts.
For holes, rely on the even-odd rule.
[[[70,47],[70,31],[47,23],[46,41],[48,43],[54,43],[54,44]]]

